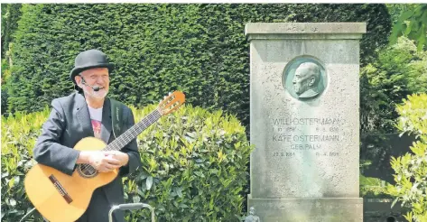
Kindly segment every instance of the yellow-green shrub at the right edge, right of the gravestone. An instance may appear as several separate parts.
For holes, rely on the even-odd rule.
[[[427,221],[427,95],[413,95],[397,106],[398,128],[404,133],[417,134],[419,141],[410,147],[413,153],[392,157],[395,170],[394,186],[388,192],[402,201],[404,207],[411,208],[405,218],[412,222]]]

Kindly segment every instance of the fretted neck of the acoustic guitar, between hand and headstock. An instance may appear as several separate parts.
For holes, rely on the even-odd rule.
[[[143,120],[141,120],[139,123],[135,124],[124,134],[121,134],[114,140],[112,143],[109,143],[106,148],[104,148],[105,151],[119,151],[125,145],[129,142],[131,142],[133,139],[138,136],[138,134],[143,133],[143,131],[153,123],[155,123],[160,117],[162,117],[162,114],[159,112],[159,110],[155,109],[152,113],[150,113],[148,116],[145,116]],[[113,126],[114,127],[114,126]]]

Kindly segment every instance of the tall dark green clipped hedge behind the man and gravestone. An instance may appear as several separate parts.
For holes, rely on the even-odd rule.
[[[144,106],[180,89],[193,106],[248,125],[248,22],[367,22],[361,61],[385,45],[385,5],[23,5],[14,32],[8,110],[38,111],[70,93],[73,60],[97,48],[116,63],[111,95]]]

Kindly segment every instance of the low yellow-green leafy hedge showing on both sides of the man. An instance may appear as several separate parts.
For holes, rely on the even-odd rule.
[[[140,121],[154,109],[131,107]],[[19,221],[32,208],[23,189],[32,147],[50,110],[2,116],[2,221]],[[222,111],[181,106],[138,136],[143,167],[124,178],[125,202],[155,208],[156,221],[237,221],[247,190],[251,148],[245,128]],[[106,212],[107,213],[107,212]],[[132,214],[131,214],[132,213]],[[42,221],[33,213],[36,221]],[[148,210],[127,221],[150,221]]]

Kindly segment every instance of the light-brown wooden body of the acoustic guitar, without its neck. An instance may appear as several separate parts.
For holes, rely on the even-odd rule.
[[[101,151],[104,141],[87,137],[74,149]],[[27,172],[25,191],[34,207],[51,222],[76,221],[88,208],[93,191],[116,178],[118,171],[97,172],[88,164],[79,164],[72,176],[51,167],[36,164]]]

